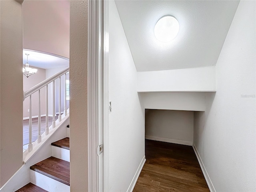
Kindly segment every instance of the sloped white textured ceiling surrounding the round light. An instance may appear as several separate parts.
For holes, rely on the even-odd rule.
[[[215,65],[239,1],[116,0],[137,71]],[[180,31],[171,42],[156,40],[154,26],[173,15]]]

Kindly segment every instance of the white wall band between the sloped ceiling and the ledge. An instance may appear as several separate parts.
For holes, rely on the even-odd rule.
[[[138,92],[214,92],[215,66],[138,72]]]

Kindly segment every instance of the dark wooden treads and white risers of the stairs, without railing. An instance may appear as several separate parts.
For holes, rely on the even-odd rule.
[[[16,192],[70,192],[69,138],[51,145],[52,156],[30,166],[30,183]]]

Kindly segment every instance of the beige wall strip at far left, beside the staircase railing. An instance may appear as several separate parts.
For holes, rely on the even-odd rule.
[[[22,1],[0,1],[0,187],[22,166]]]

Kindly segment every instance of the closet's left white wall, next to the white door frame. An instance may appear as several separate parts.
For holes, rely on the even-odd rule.
[[[109,191],[127,191],[144,158],[144,108],[116,4],[109,2]]]

